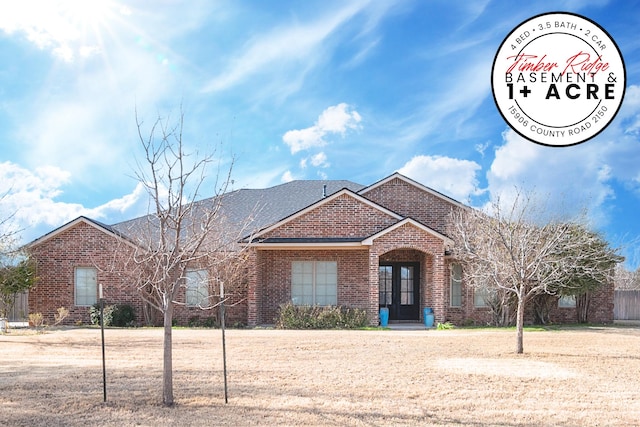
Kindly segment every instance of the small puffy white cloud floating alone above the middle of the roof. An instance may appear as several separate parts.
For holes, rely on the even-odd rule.
[[[361,121],[360,114],[343,102],[324,110],[313,126],[286,132],[282,140],[291,149],[291,154],[295,154],[309,148],[325,146],[327,141],[324,137],[328,134],[344,136],[348,130],[360,129]]]

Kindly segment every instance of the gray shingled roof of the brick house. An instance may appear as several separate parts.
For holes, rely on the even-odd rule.
[[[325,187],[326,186],[326,187]],[[211,209],[221,203],[220,214],[228,223],[241,226],[252,217],[251,231],[257,231],[306,208],[325,195],[344,188],[357,192],[364,185],[347,180],[298,180],[261,189],[241,189],[195,202],[196,209]],[[325,192],[326,188],[326,192]],[[147,217],[120,222],[111,226],[123,234],[147,229]]]

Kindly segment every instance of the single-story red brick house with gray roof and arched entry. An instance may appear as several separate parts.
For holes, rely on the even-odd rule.
[[[227,311],[230,322],[272,324],[287,302],[358,307],[372,324],[381,307],[389,309],[391,322],[420,322],[425,307],[433,309],[436,322],[489,320],[482,296],[466,285],[464,271],[449,255],[447,217],[468,207],[399,173],[369,186],[304,180],[220,197],[227,217],[257,212],[244,286]],[[211,200],[196,203],[206,207]],[[86,323],[101,284],[107,303],[131,304],[139,319],[143,312],[148,319],[141,296],[108,267],[114,251],[132,244],[126,233],[139,220],[105,225],[79,217],[31,242],[40,281],[29,293],[30,312],[52,322],[57,308],[65,307],[71,313],[67,323]],[[179,324],[215,317],[194,303],[197,292],[212,292],[212,286],[206,272],[186,278],[184,304],[174,314]],[[591,301],[590,321],[613,321],[613,285]],[[574,321],[575,310],[559,301],[550,319]]]

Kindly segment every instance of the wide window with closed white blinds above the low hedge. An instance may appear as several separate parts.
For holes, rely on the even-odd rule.
[[[293,261],[291,301],[295,305],[336,305],[338,263],[335,261]]]

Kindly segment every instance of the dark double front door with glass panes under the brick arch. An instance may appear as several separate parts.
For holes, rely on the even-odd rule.
[[[389,320],[420,320],[420,264],[380,264],[380,307],[389,309]]]

